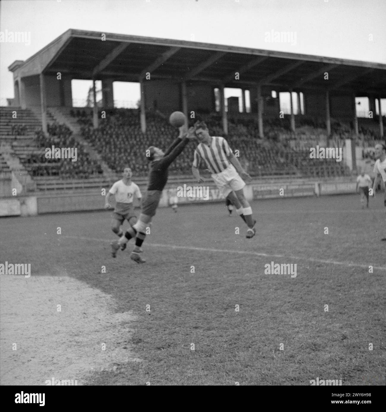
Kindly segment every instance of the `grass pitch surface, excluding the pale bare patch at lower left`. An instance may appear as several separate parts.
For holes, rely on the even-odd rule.
[[[382,197],[369,210],[354,195],[251,206],[252,239],[223,203],[159,209],[143,265],[129,258],[132,240],[111,258],[111,212],[4,218],[1,262],[30,262],[42,281],[73,276],[136,315],[118,345],[142,361],[116,363],[86,384],[385,384]],[[272,261],[296,264],[296,277],[265,274]]]

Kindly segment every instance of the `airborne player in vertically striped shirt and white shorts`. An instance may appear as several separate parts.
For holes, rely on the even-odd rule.
[[[252,218],[252,208],[243,192],[245,186],[243,179],[250,181],[251,176],[244,171],[240,162],[233,155],[227,140],[223,137],[210,136],[204,122],[196,122],[194,131],[199,145],[194,150],[193,176],[199,183],[205,181],[200,176],[198,169],[201,160],[204,160],[220,192],[231,201],[238,215],[247,224],[246,237],[253,237],[256,233],[254,228],[256,220]]]

